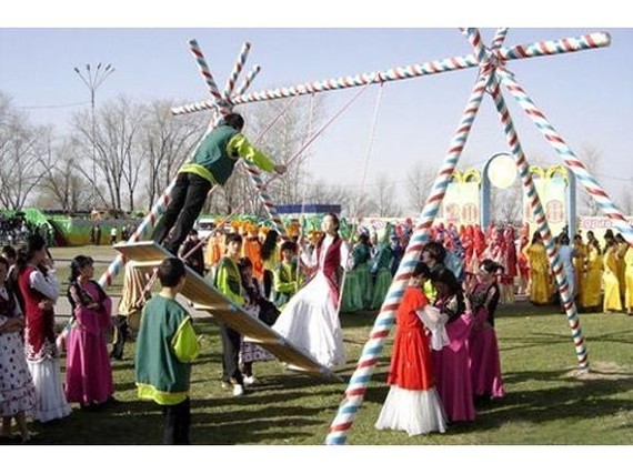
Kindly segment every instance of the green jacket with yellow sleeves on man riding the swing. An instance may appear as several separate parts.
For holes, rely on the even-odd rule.
[[[274,171],[274,162],[253,148],[243,134],[232,127],[220,125],[204,137],[193,159],[184,163],[179,172],[198,174],[212,184],[224,184],[240,158],[263,171]]]

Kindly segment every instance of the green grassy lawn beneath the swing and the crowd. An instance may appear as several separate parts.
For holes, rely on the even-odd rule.
[[[92,253],[89,253],[92,252]],[[53,249],[62,272],[70,258],[91,254],[101,274],[109,248]],[[61,276],[61,274],[60,274]],[[120,284],[120,283],[119,283]],[[112,291],[120,291],[113,285]],[[349,364],[345,381],[373,325],[374,313],[342,314]],[[577,371],[571,331],[554,306],[528,303],[501,306],[496,331],[508,395],[478,406],[473,423],[454,424],[444,434],[409,437],[376,431],[373,424],[388,392],[391,342],[380,356],[363,404],[348,433],[353,445],[631,445],[633,444],[633,317],[581,314],[590,373]],[[285,373],[277,361],[254,365],[260,383],[234,399],[220,387],[221,349],[211,319],[195,321],[203,334],[192,371],[191,440],[203,445],[320,445],[336,414],[346,384]],[[392,333],[393,335],[393,333]],[[113,362],[115,396],[122,402],[100,412],[72,414],[50,425],[33,423],[43,444],[157,444],[161,411],[135,397],[133,343]],[[64,361],[62,361],[62,364]]]

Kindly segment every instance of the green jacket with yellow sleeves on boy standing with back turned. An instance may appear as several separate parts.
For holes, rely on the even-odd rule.
[[[191,316],[175,300],[154,295],[143,307],[134,357],[138,395],[160,405],[189,396],[191,362],[200,346]]]

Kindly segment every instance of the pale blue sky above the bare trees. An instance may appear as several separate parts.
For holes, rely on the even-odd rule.
[[[89,92],[73,72],[76,65],[86,63],[112,63],[115,68],[97,92],[98,104],[120,94],[137,101],[179,99],[185,103],[207,99],[205,84],[188,50],[187,42],[193,38],[220,87],[242,43],[251,42],[245,70],[260,64],[262,71],[250,91],[471,52],[456,28],[289,28],[301,24],[298,21],[282,24],[285,28],[281,29],[264,28],[265,22],[259,28],[199,29],[165,28],[160,21],[157,24],[163,28],[151,28],[154,23],[151,20],[149,23],[145,28],[119,28],[117,22],[107,21],[101,24],[117,28],[78,28],[92,26],[89,20],[53,23],[57,28],[1,24],[0,90],[13,99],[14,105],[24,108],[32,121],[64,130],[74,110],[89,107],[78,104],[89,100]],[[243,23],[250,21],[244,18]],[[272,23],[277,24],[277,20]],[[34,20],[16,24],[49,26]],[[180,21],[174,18],[173,24]],[[384,24],[391,24],[389,16]],[[66,26],[74,28],[62,28]],[[510,29],[506,47],[599,31],[611,34],[607,48],[510,61],[508,67],[572,150],[577,153],[584,147],[599,150],[602,165],[596,179],[609,193],[619,195],[632,178],[629,154],[633,149],[630,133],[633,29],[600,24],[564,29],[520,27]],[[481,29],[485,42],[491,41],[494,31],[494,28]],[[441,164],[476,73],[473,68],[385,85],[366,185],[375,182],[379,174],[395,184],[402,183],[418,162],[433,168]],[[356,91],[325,93],[325,119],[336,113]],[[360,170],[365,160],[376,94],[378,87],[369,88],[319,138],[309,162],[312,173],[332,183],[361,185]],[[529,159],[559,163],[553,149],[514,99],[509,93],[504,95]],[[486,97],[462,161],[479,164],[501,151],[505,151],[504,137],[492,100]]]

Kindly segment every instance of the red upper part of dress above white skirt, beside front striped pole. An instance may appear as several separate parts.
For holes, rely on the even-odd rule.
[[[426,304],[429,300],[422,289],[406,286],[395,316],[398,329],[389,369],[390,385],[408,390],[429,390],[435,385],[429,337],[415,314],[415,310]]]

